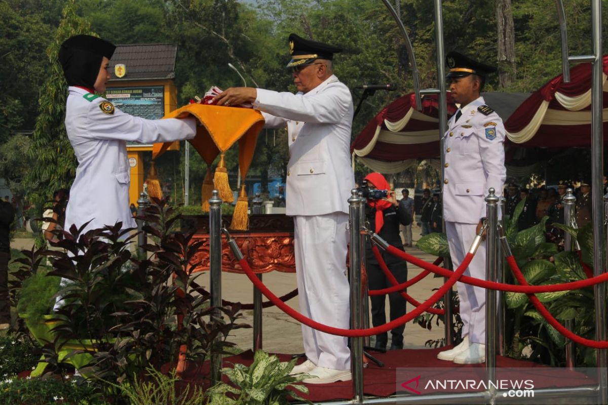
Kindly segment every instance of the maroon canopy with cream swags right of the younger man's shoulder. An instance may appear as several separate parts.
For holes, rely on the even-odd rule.
[[[603,57],[604,140],[608,140],[608,56]],[[508,139],[521,146],[564,148],[591,143],[591,64],[570,69],[570,83],[559,75],[513,112],[505,122]]]

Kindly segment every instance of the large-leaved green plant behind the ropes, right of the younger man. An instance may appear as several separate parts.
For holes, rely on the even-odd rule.
[[[560,284],[586,279],[581,260],[575,251],[561,251],[554,243],[545,242],[544,217],[540,223],[517,232],[517,217],[521,213],[520,202],[513,218],[504,220],[505,236],[511,247],[517,265],[531,285]],[[583,260],[592,261],[593,238],[589,237],[592,224],[574,230],[565,225],[553,224],[564,229],[578,240]],[[511,274],[506,261],[503,262]],[[513,283],[513,277],[507,279]],[[558,321],[575,320],[574,329],[578,335],[593,339],[595,333],[595,309],[593,291],[584,288],[573,291],[539,293],[537,298],[545,304]],[[508,319],[506,320],[507,340],[510,341],[508,354],[514,358],[530,358],[552,366],[565,362],[564,346],[567,339],[549,325],[528,300],[526,294],[505,293]],[[592,367],[595,365],[595,350],[576,346],[576,364]]]

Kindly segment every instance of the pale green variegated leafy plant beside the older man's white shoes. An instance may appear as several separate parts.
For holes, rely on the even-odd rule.
[[[308,393],[306,386],[297,383],[309,375],[289,375],[294,366],[295,359],[281,362],[277,356],[258,350],[251,366],[234,364],[222,369],[231,384],[218,383],[207,390],[209,405],[287,405],[290,397],[312,404],[295,392]]]

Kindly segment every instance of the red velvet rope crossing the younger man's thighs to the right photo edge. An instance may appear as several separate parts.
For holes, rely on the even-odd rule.
[[[443,277],[451,277],[454,271],[446,270],[442,267],[432,265],[425,262],[424,260],[418,259],[418,257],[412,256],[404,251],[401,251],[393,246],[389,246],[386,250],[394,256],[401,257],[401,259],[407,260],[408,262],[416,265],[425,270],[430,270],[433,273],[439,274]],[[553,293],[556,291],[569,291],[578,290],[579,288],[591,287],[595,284],[600,284],[608,281],[608,273],[602,273],[599,276],[592,277],[586,280],[572,281],[562,284],[550,284],[550,285],[511,285],[503,284],[495,281],[486,281],[475,277],[461,276],[460,282],[466,284],[475,285],[475,287],[488,288],[489,290],[498,291],[510,291],[512,293],[524,293],[524,294],[538,294],[538,293]]]

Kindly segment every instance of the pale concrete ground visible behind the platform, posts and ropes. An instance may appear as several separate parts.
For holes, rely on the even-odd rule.
[[[414,241],[420,239],[420,228],[413,226]],[[16,249],[31,248],[33,239],[14,239],[11,247]],[[427,262],[433,262],[435,257],[423,253],[417,248],[406,248],[408,253],[413,254]],[[415,277],[421,269],[413,265],[408,266],[408,276]],[[197,277],[197,282],[209,289],[209,273],[206,272]],[[277,296],[282,296],[296,288],[295,273],[281,273],[272,271],[263,276],[263,282]],[[434,292],[434,288],[439,288],[443,284],[443,278],[432,277],[432,274],[425,277],[422,281],[408,289],[409,294],[418,301],[424,301]],[[253,287],[244,274],[223,273],[222,277],[223,298],[227,301],[243,302],[249,304],[253,302]],[[264,298],[266,301],[266,298]],[[299,310],[297,297],[287,302],[295,310]],[[389,303],[386,304],[387,312]],[[407,310],[411,311],[412,305],[407,304]],[[252,324],[253,311],[244,311],[242,322]],[[263,311],[263,349],[271,353],[302,353],[302,334],[300,322],[295,321],[290,316],[278,310],[276,307],[266,308]],[[424,347],[424,342],[429,339],[443,338],[443,324],[432,325],[432,330],[421,328],[418,324],[409,322],[404,332],[404,347],[414,349]],[[390,333],[389,333],[390,336]],[[240,349],[247,350],[253,347],[253,329],[238,329],[232,332],[229,341],[235,342]],[[373,342],[373,338],[372,338]],[[390,344],[390,341],[389,341]]]

